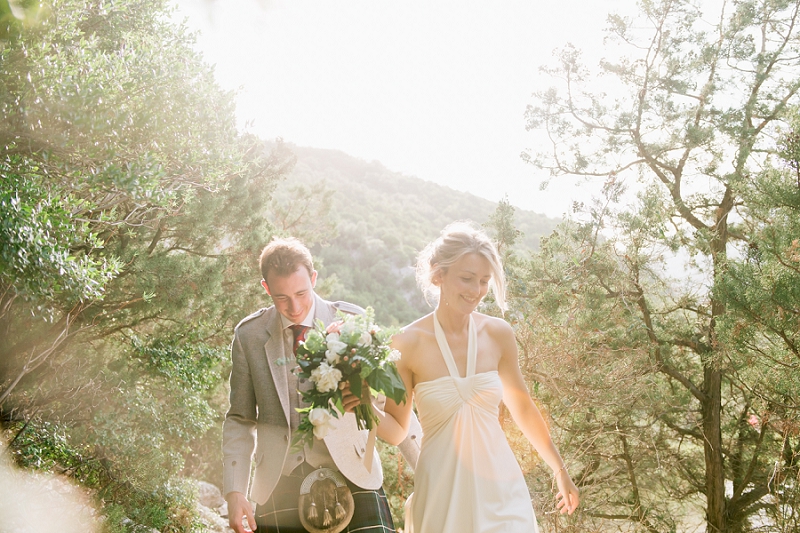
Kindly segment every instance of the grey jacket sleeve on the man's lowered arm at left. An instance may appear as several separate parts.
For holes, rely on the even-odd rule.
[[[239,328],[231,344],[230,409],[222,424],[222,494],[247,495],[250,464],[256,445],[256,396],[250,365],[242,349]]]

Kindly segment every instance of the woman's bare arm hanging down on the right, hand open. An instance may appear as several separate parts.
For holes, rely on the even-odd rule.
[[[528,393],[519,368],[519,354],[514,331],[507,322],[501,320],[497,320],[492,326],[492,335],[501,347],[497,371],[503,382],[503,403],[508,407],[514,422],[517,423],[522,433],[553,470],[559,489],[558,508],[562,513],[572,514],[580,502],[578,488],[569,477],[564,460],[558,453],[553,439],[550,438],[550,431],[542,413],[539,412],[539,408],[533,403]]]

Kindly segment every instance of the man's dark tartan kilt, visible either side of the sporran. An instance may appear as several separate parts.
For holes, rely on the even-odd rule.
[[[257,533],[307,533],[297,511],[300,486],[315,468],[303,463],[290,475],[281,476],[269,500],[256,507]],[[383,489],[367,490],[345,478],[353,494],[353,519],[343,533],[395,533],[389,501]]]

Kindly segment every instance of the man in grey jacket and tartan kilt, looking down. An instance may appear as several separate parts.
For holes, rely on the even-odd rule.
[[[304,478],[317,468],[330,468],[346,478],[353,495],[354,514],[343,531],[393,533],[395,531],[386,495],[381,488],[383,472],[377,451],[372,468],[365,466],[367,431],[358,431],[355,417],[347,413],[336,427],[312,446],[290,452],[292,432],[299,424],[301,407],[297,376],[292,365],[279,360],[292,357],[300,339],[293,333],[301,325],[313,326],[319,319],[326,325],[336,311],[361,313],[346,302],[328,302],[317,296],[317,272],[311,253],[294,238],[275,239],[260,258],[261,284],[272,297],[273,306],[256,311],[242,320],[231,346],[233,367],[230,377],[230,409],[223,423],[223,494],[228,518],[236,533],[245,531],[243,518],[258,533],[305,532],[298,514],[298,499]],[[301,330],[302,331],[302,330]],[[302,337],[300,337],[302,338]],[[346,410],[359,403],[348,394]],[[416,425],[418,428],[418,424]],[[412,466],[419,453],[420,434],[414,426],[401,445]],[[250,499],[250,468],[255,452],[255,472]]]

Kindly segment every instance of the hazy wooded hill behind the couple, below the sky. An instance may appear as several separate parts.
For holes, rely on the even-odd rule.
[[[277,202],[287,201],[298,185],[309,203],[312,191],[329,190],[324,196],[338,235],[312,248],[320,260],[320,279],[328,280],[322,292],[371,305],[383,324],[404,325],[430,310],[414,280],[413,265],[422,247],[450,222],[483,224],[497,208],[495,202],[392,172],[376,161],[336,150],[289,148],[297,164],[276,191]],[[534,250],[559,220],[517,209],[515,222],[523,232],[520,248]]]

